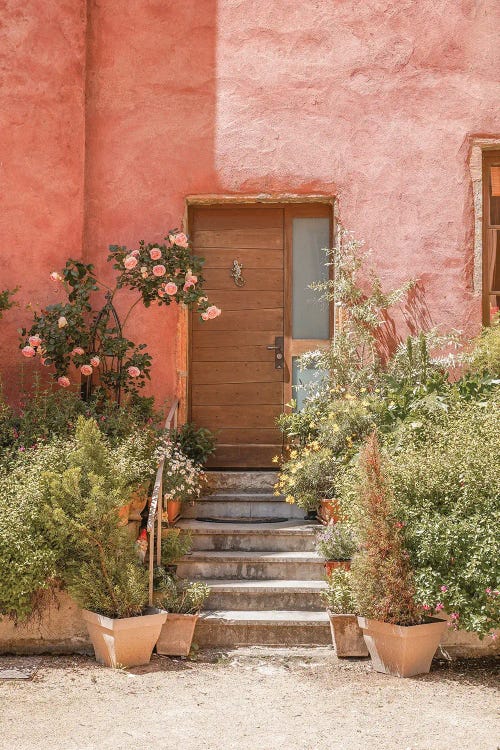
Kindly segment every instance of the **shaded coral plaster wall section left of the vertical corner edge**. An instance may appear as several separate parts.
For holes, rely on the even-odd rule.
[[[7,0],[0,19],[0,289],[21,287],[0,362],[15,396],[25,305],[54,302],[49,272],[82,253],[85,3]]]

